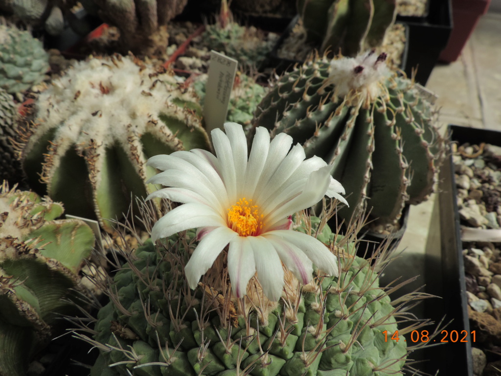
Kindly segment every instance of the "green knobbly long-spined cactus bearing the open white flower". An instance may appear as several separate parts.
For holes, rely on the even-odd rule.
[[[196,247],[193,230],[162,240],[161,246],[148,240],[134,251],[124,249],[127,263],[107,288],[110,302],[99,310],[92,338],[89,331],[79,334],[100,350],[91,376],[399,373],[416,347],[407,346],[403,335],[427,321],[397,327],[395,317],[405,309],[402,302],[420,294],[392,302],[388,294],[397,287],[378,284],[384,252],[370,260],[354,256],[353,239],[323,223],[298,215],[293,228],[330,246],[338,255],[339,277],[317,270],[301,288],[284,268],[279,302],[263,295],[256,276],[247,295],[236,299],[224,255],[190,290],[184,266]],[[397,329],[400,340],[390,340]]]

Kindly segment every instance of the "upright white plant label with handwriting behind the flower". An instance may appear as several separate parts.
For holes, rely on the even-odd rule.
[[[215,128],[222,128],[226,121],[237,66],[238,62],[235,59],[228,58],[219,52],[210,51],[205,102],[203,104],[203,118],[207,132]]]

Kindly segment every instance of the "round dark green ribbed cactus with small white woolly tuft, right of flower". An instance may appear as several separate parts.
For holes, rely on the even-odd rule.
[[[406,203],[433,192],[446,146],[430,104],[384,60],[372,52],[311,59],[273,83],[254,125],[290,134],[307,157],[332,165],[350,205],[338,217],[371,209],[391,228]]]

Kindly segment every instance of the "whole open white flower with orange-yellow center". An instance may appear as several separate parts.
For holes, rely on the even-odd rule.
[[[148,180],[162,184],[148,196],[183,203],[163,216],[152,229],[152,240],[197,228],[200,240],[185,267],[190,288],[212,266],[229,244],[227,268],[237,298],[257,272],[264,294],[280,299],[284,287],[282,263],[300,282],[310,282],[313,263],[338,275],[337,259],[312,236],[290,230],[291,216],[327,195],[347,205],[342,185],[332,178],[319,157],[305,160],[300,144],[291,149],[292,137],[278,134],[270,142],[259,127],[247,158],[242,126],[224,124],[211,132],[216,156],[193,149],[156,155],[148,164],[164,172]]]

